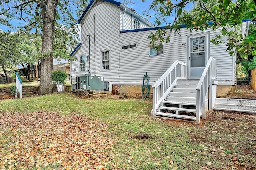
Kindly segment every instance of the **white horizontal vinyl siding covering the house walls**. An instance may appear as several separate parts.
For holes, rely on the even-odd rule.
[[[102,10],[104,9],[104,10]],[[106,13],[106,11],[108,11]],[[171,33],[171,40],[164,43],[164,54],[157,57],[149,56],[150,41],[148,35],[154,31],[127,32],[120,33],[120,12],[119,8],[108,2],[102,2],[98,6],[92,8],[82,24],[81,43],[82,47],[74,54],[74,56],[87,56],[88,47],[90,47],[90,68],[91,74],[103,76],[104,81],[111,81],[113,84],[128,84],[142,85],[143,75],[149,75],[149,81],[152,85],[162,74],[174,63],[179,60],[187,62],[188,56],[188,40],[187,36],[200,36],[203,32],[192,31],[181,28],[178,34]],[[93,49],[94,49],[94,15],[95,15],[95,63],[93,64]],[[131,15],[124,13],[124,30],[131,30]],[[104,25],[104,29],[102,29]],[[143,23],[141,22],[141,28]],[[220,30],[209,33],[210,40],[220,34]],[[90,45],[85,42],[85,36],[90,35]],[[86,44],[86,45],[85,45]],[[122,46],[136,44],[136,48],[122,49]],[[184,44],[184,45],[182,45]],[[219,45],[212,43],[206,44],[209,47],[209,57],[214,57],[217,60],[217,81],[218,85],[232,85],[234,82],[234,58],[229,56],[226,51],[226,37]],[[102,70],[101,56],[102,50],[111,49],[110,67],[109,70]],[[86,62],[86,68],[88,68]],[[95,67],[93,68],[93,65]],[[79,62],[72,61],[70,68],[72,81],[74,82],[75,75],[84,75],[74,72],[73,68],[78,70]],[[95,69],[95,73],[94,73]]]

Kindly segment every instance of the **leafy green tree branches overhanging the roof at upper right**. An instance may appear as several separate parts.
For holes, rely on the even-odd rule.
[[[186,11],[186,7],[191,4],[194,4],[193,9]],[[229,29],[240,30],[243,19],[256,21],[256,0],[153,0],[150,10],[156,12],[158,26],[165,23],[168,17],[174,18],[174,22],[168,23],[165,29],[159,29],[149,35],[150,43],[154,48],[170,41],[170,32],[179,32],[179,24],[186,24],[190,30],[222,28],[222,35],[216,36],[211,41],[218,44],[222,36],[228,36],[228,50],[234,47],[239,50],[241,45],[238,44],[244,40],[252,43],[256,40],[256,32],[252,33],[250,38],[243,39],[239,32]]]

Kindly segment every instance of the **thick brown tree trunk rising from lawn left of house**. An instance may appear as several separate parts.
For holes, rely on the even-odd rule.
[[[43,18],[43,35],[42,35],[42,54],[40,85],[38,95],[52,93],[52,51],[53,51],[53,32],[56,16],[56,7],[58,0],[48,0],[47,4],[41,6]]]

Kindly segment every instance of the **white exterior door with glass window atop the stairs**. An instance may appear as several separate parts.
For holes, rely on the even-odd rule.
[[[188,79],[200,79],[208,61],[208,36],[188,38]]]

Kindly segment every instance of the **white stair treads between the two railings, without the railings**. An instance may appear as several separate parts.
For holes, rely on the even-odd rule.
[[[196,86],[198,80],[178,80],[168,97],[162,101],[156,117],[196,120]]]

